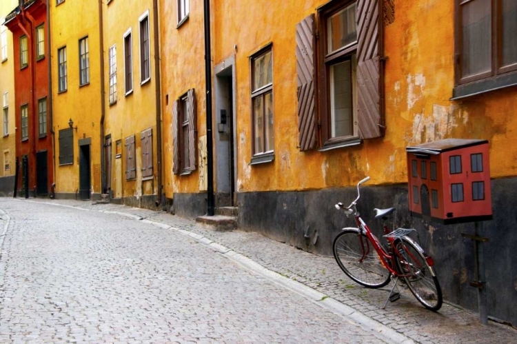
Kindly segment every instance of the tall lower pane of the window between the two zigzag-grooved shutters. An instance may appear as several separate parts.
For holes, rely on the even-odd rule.
[[[352,63],[343,61],[330,66],[331,136],[352,135],[352,119]]]

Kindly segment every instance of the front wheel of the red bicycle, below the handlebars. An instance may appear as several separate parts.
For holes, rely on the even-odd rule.
[[[389,283],[390,272],[381,263],[368,237],[359,233],[357,228],[349,228],[338,234],[332,245],[334,258],[341,270],[353,281],[369,288],[384,287]],[[369,247],[369,252],[362,261],[363,250],[359,235],[363,239],[363,245]]]

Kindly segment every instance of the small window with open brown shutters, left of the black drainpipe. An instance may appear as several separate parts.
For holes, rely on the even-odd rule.
[[[196,170],[196,94],[194,89],[174,101],[172,107],[172,148],[174,174]]]

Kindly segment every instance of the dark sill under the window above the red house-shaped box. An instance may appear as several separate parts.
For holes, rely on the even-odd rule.
[[[507,88],[517,85],[517,72],[511,72],[507,74],[497,75],[479,81],[473,81],[472,83],[465,83],[463,85],[457,85],[452,89],[452,98],[450,100],[458,100],[467,97],[472,97],[477,94],[483,94],[499,90],[501,88]]]

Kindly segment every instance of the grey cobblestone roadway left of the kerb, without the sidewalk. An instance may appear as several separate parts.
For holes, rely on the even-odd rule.
[[[64,203],[81,208],[0,199],[0,343],[381,342],[199,240],[117,212],[204,232],[192,221]]]

